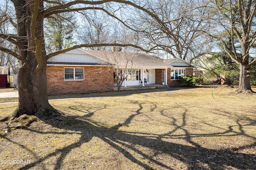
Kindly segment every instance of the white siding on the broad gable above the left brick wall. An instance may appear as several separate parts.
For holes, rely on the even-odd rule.
[[[82,51],[75,49],[66,53],[56,55],[50,59],[49,62],[64,62],[64,63],[103,63],[96,57],[92,57]]]

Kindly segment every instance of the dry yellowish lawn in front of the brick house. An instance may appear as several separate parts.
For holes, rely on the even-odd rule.
[[[0,169],[256,169],[256,95],[231,91],[50,100],[65,121],[38,120],[24,129],[0,124],[0,160],[30,161]],[[16,106],[0,104],[1,116]]]

